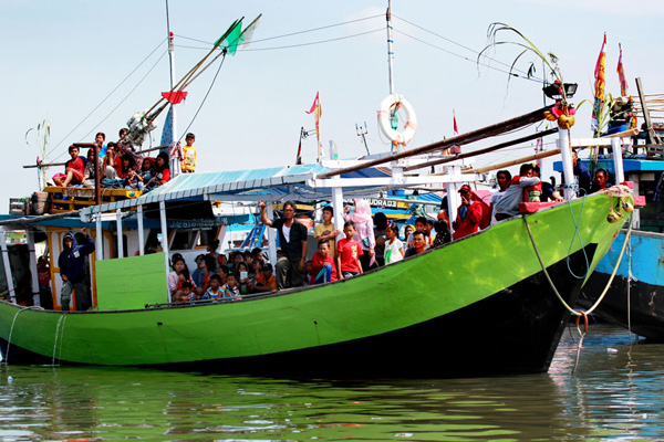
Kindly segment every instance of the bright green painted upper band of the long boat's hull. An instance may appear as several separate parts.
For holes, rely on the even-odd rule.
[[[614,199],[614,204],[618,199]],[[596,244],[591,269],[619,229],[595,194],[529,215],[546,265]],[[573,217],[572,217],[573,213]],[[228,304],[128,312],[19,313],[12,343],[50,357],[146,365],[266,355],[374,336],[444,316],[541,270],[516,218],[417,257],[352,280]],[[573,277],[570,275],[570,277]],[[0,303],[7,339],[19,308]],[[58,323],[60,340],[55,344]]]

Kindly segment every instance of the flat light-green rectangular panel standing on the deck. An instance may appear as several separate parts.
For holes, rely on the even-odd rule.
[[[97,309],[123,311],[167,303],[164,262],[164,253],[97,261]]]

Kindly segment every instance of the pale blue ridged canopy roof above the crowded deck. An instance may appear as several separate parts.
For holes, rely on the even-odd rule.
[[[321,164],[313,164],[269,169],[183,173],[149,193],[135,199],[86,208],[81,210],[81,215],[177,200],[323,200],[331,198],[331,187],[321,185],[321,181],[317,181],[315,178],[333,169]],[[391,177],[391,173],[384,169],[367,168],[344,173],[335,182],[343,187],[344,196],[371,197],[388,188]],[[374,180],[367,180],[369,178]],[[346,183],[350,186],[345,186]]]

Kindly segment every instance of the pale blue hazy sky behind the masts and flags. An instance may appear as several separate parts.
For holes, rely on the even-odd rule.
[[[245,17],[248,23],[262,13],[253,42],[227,56],[221,66],[210,66],[177,107],[178,133],[196,134],[197,171],[292,165],[300,128],[314,128],[313,116],[305,110],[317,93],[325,149],[333,140],[341,158],[365,154],[355,125],[366,122],[370,151],[388,150],[376,122],[380,104],[390,93],[386,8],[385,0],[169,0],[178,80],[234,20]],[[664,36],[661,0],[393,0],[392,9],[394,88],[413,105],[418,120],[408,148],[452,136],[453,115],[465,133],[542,107],[541,81],[550,75],[535,56],[522,56],[515,66],[521,76],[509,82],[517,46],[497,46],[477,63],[494,22],[518,29],[542,52],[556,54],[563,78],[579,84],[571,99],[577,105],[593,98],[604,32],[606,92],[620,92],[619,43],[630,94],[636,94],[635,77],[642,78],[646,93],[664,91],[664,59],[656,56]],[[69,159],[70,144],[91,143],[97,131],[115,141],[135,112],[152,107],[169,90],[170,74],[164,0],[0,0],[0,11],[4,60],[0,130],[7,161],[6,185],[0,188],[0,204],[7,209],[0,212],[4,212],[9,198],[38,190],[37,170],[23,168],[42,157],[37,130],[30,129],[49,122],[46,162]],[[500,39],[517,41],[512,33]],[[525,72],[532,62],[536,78],[528,78]],[[591,136],[591,107],[587,102],[579,108],[573,137]],[[152,133],[153,146],[159,144],[160,134],[160,126]],[[315,161],[315,136],[304,139],[302,149],[304,161]],[[532,151],[533,145],[526,145],[476,158],[474,164]],[[50,168],[48,176],[59,171],[61,166]]]

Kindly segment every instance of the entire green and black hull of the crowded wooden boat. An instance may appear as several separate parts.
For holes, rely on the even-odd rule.
[[[583,283],[570,270],[590,272],[610,248],[610,204],[595,196],[528,215],[569,305]],[[21,349],[74,364],[476,376],[546,371],[568,319],[519,217],[360,277],[257,299],[69,314],[2,303],[0,338],[10,360]]]

